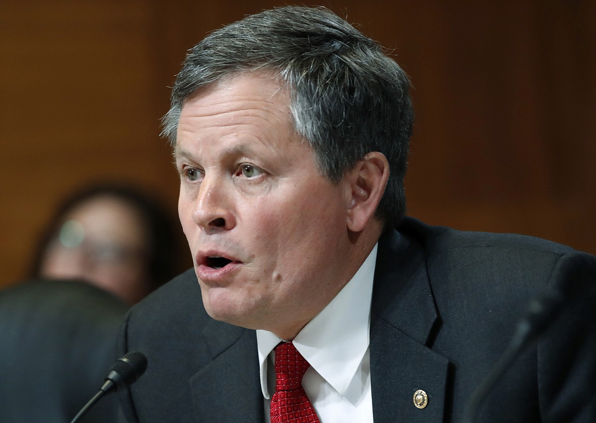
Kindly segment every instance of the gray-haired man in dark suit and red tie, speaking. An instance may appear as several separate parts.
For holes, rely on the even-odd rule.
[[[190,51],[164,134],[194,270],[123,326],[119,354],[149,362],[130,422],[459,421],[525,304],[596,274],[562,245],[404,218],[408,88],[324,9],[249,16]],[[592,309],[562,312],[480,418],[593,421]]]

